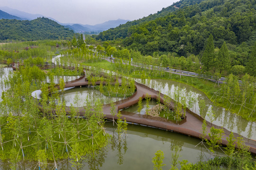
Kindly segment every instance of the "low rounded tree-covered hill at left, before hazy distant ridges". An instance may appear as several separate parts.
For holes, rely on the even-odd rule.
[[[0,40],[34,41],[67,39],[73,35],[73,31],[45,17],[39,17],[32,21],[16,19],[0,20]]]

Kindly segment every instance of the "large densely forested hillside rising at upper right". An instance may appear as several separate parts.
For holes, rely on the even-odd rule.
[[[139,25],[119,26],[99,34],[97,39],[124,39],[125,47],[143,55],[155,56],[157,52],[201,58],[212,34],[215,53],[226,42],[231,66],[247,65],[256,41],[256,0],[183,0],[174,5],[179,9],[164,17],[145,17]]]

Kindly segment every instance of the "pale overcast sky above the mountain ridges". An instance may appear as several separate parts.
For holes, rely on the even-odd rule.
[[[1,0],[0,6],[52,17],[61,23],[95,25],[115,19],[139,19],[178,0]]]

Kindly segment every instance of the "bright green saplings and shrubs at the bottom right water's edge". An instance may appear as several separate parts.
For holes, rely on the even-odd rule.
[[[235,138],[233,133],[230,133],[230,136],[227,137],[228,145],[222,147],[220,144],[223,135],[222,129],[212,127],[210,133],[207,134],[211,138],[208,140],[205,138],[206,123],[204,122],[202,132],[202,141],[199,144],[211,153],[211,157],[207,158],[207,161],[199,161],[195,164],[188,163],[187,160],[178,161],[179,152],[182,148],[176,144],[171,149],[171,158],[169,158],[171,161],[170,170],[177,170],[178,167],[180,167],[180,170],[256,170],[256,163],[252,161],[248,146],[244,144],[241,137]],[[222,155],[219,153],[222,153]],[[166,166],[164,159],[164,153],[161,150],[155,153],[155,157],[152,158],[154,170],[162,170],[162,167]]]

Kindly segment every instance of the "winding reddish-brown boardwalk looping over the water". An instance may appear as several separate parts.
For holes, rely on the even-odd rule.
[[[119,81],[119,83],[121,83],[120,78],[118,79],[118,81]],[[96,85],[99,85],[99,84],[100,84],[99,81],[96,82]],[[88,85],[88,81],[85,78],[85,76],[82,76],[76,80],[66,82],[65,88],[84,86],[84,85]],[[159,95],[159,91],[156,91],[146,85],[142,85],[137,82],[135,82],[135,85],[136,85],[136,92],[131,97],[126,98],[121,101],[114,102],[115,106],[116,106],[116,110],[115,110],[116,113],[120,109],[124,109],[126,107],[132,106],[133,104],[136,104],[139,101],[139,98],[141,97],[143,99],[146,96],[146,94],[150,95],[150,98],[154,98],[154,99],[158,99],[160,97],[160,101],[164,102],[164,94],[160,93],[160,95]],[[33,95],[33,97],[34,97],[34,95]],[[170,99],[168,104],[171,107],[174,107],[174,101],[172,99]],[[105,114],[104,117],[106,119],[113,119],[110,109],[111,109],[110,104],[103,105],[103,112]],[[55,112],[55,110],[53,110],[53,112]],[[69,114],[69,107],[66,107],[66,112],[67,112],[67,114]],[[79,107],[79,114],[80,114],[80,116],[83,116],[85,114],[85,110],[83,107]],[[181,120],[178,123],[168,121],[166,119],[165,119],[165,121],[160,121],[156,117],[151,117],[151,116],[146,116],[146,115],[143,115],[143,116],[138,115],[138,114],[122,115],[121,119],[125,118],[126,121],[128,121],[128,122],[138,123],[141,125],[147,125],[147,126],[151,126],[151,127],[158,127],[158,128],[174,131],[177,133],[181,133],[184,135],[193,136],[196,138],[201,138],[201,136],[202,136],[202,124],[203,124],[204,119],[202,117],[200,117],[199,115],[197,115],[196,113],[189,110],[188,108],[186,108],[186,110],[185,110],[185,119]],[[114,119],[117,119],[116,115],[114,116]],[[221,144],[227,145],[228,141],[226,140],[226,138],[230,135],[231,132],[229,130],[225,129],[224,127],[216,126],[208,121],[206,121],[206,123],[207,123],[206,134],[210,133],[211,127],[223,129],[224,134],[222,136]],[[244,136],[240,136],[237,133],[234,133],[234,137],[235,138],[242,137],[245,144],[247,146],[249,146],[249,151],[251,153],[256,154],[256,141],[255,140],[248,139]],[[205,136],[205,138],[210,139],[209,136]]]

